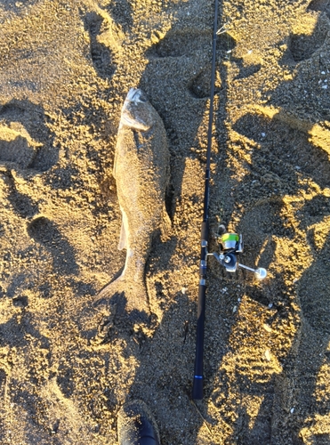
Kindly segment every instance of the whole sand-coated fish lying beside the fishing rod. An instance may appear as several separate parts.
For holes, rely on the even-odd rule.
[[[113,175],[122,215],[118,249],[126,249],[125,267],[95,303],[124,294],[126,312],[149,313],[145,268],[152,240],[159,230],[162,240],[171,231],[165,206],[170,152],[163,120],[138,88],[130,89],[121,110]]]

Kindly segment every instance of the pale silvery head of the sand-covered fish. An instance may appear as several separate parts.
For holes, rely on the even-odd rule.
[[[131,88],[127,93],[120,125],[129,126],[142,132],[148,131],[155,124],[157,111],[139,88]]]

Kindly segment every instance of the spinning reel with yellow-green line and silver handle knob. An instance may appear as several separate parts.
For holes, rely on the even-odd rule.
[[[267,277],[267,271],[262,267],[253,269],[252,267],[247,267],[244,264],[238,263],[237,254],[241,254],[243,252],[242,235],[225,232],[219,236],[218,242],[220,246],[220,253],[207,253],[207,256],[213,255],[214,258],[221,263],[221,266],[225,267],[226,271],[235,272],[237,271],[237,267],[241,267],[247,271],[254,272],[257,279],[265,279]]]

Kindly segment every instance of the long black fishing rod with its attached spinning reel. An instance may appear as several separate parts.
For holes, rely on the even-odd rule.
[[[199,265],[199,287],[198,287],[198,306],[197,306],[197,337],[196,337],[196,356],[195,356],[195,373],[193,379],[192,398],[195,400],[203,399],[203,355],[204,355],[204,325],[205,325],[205,297],[206,297],[206,271],[207,257],[212,255],[221,265],[229,272],[237,271],[237,267],[241,267],[248,271],[253,271],[258,279],[264,279],[267,271],[263,268],[253,269],[244,264],[238,263],[237,254],[243,252],[242,235],[237,233],[226,233],[224,226],[221,226],[221,237],[219,238],[220,252],[209,253],[207,251],[209,238],[208,210],[210,195],[210,166],[211,166],[211,145],[212,145],[212,125],[213,125],[213,102],[214,102],[214,84],[215,84],[215,58],[216,58],[216,38],[218,34],[225,32],[222,27],[218,31],[218,0],[214,5],[214,25],[213,25],[213,54],[211,69],[211,95],[210,95],[210,112],[207,133],[207,151],[206,151],[206,167],[205,167],[205,192],[204,192],[204,210],[203,223],[201,230],[201,253]]]

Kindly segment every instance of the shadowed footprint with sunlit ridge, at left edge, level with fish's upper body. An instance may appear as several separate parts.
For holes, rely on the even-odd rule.
[[[0,163],[36,172],[58,160],[58,150],[44,125],[44,111],[29,101],[10,101],[0,107]]]

